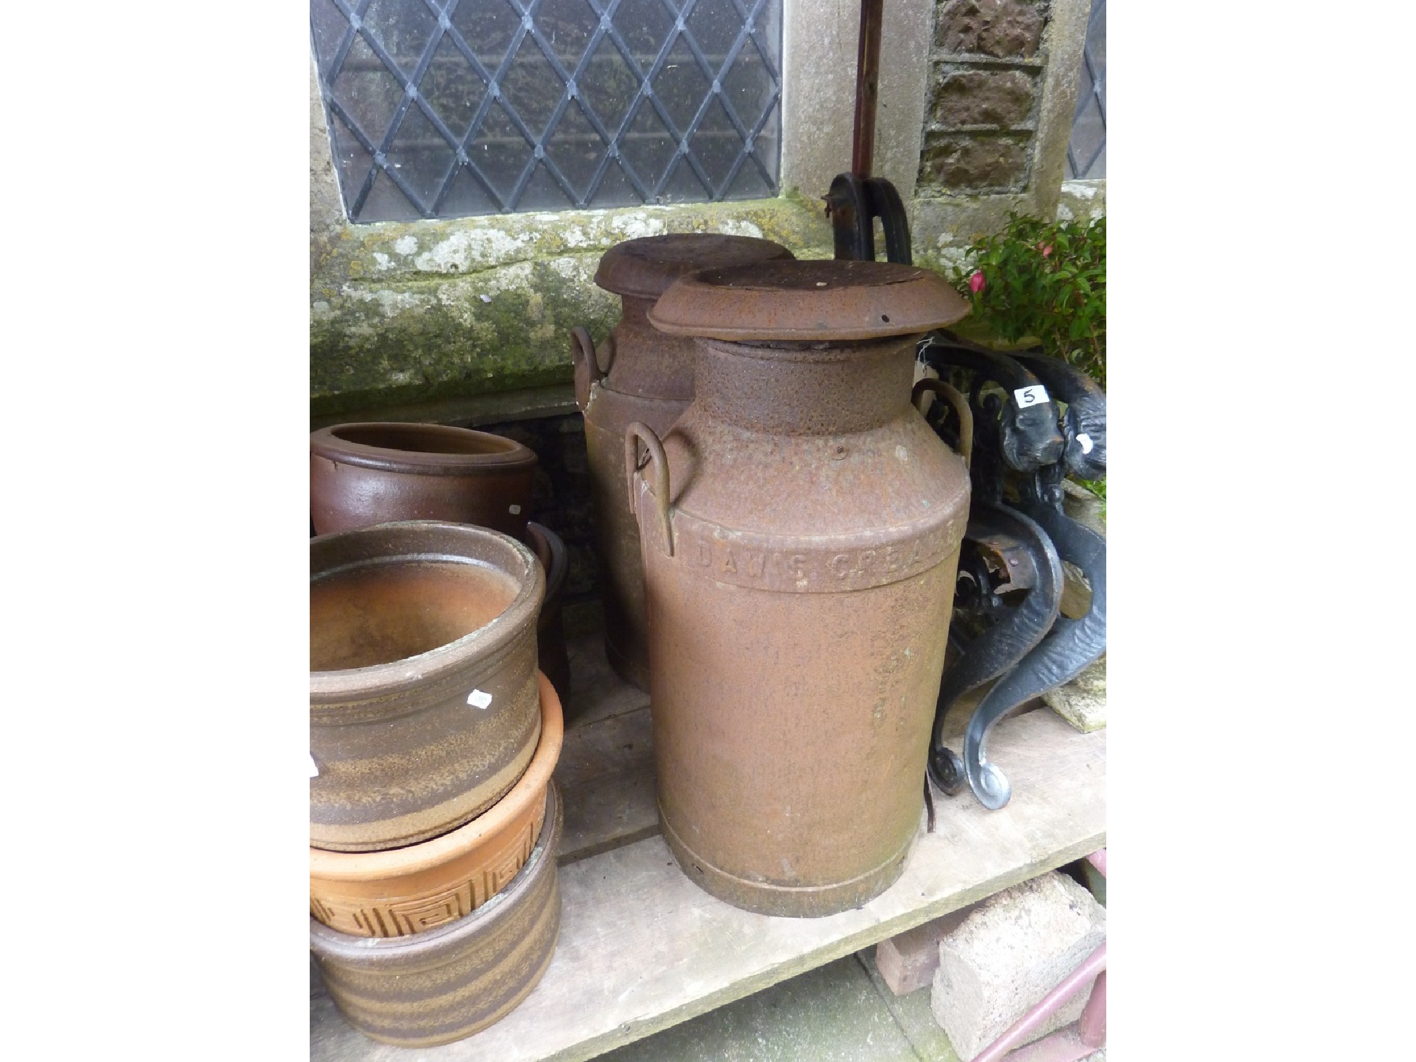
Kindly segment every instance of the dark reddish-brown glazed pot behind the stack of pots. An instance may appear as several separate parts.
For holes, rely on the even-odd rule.
[[[521,443],[467,428],[321,428],[310,436],[310,515],[321,535],[392,520],[446,520],[525,538],[535,464]]]

